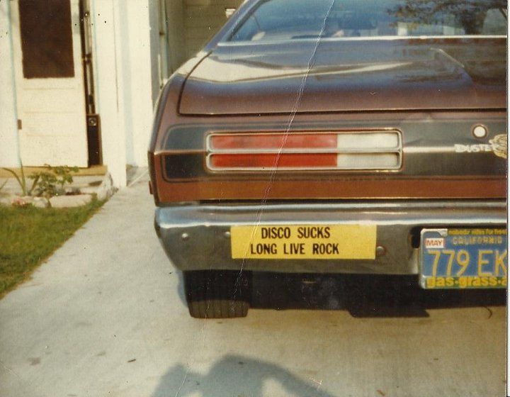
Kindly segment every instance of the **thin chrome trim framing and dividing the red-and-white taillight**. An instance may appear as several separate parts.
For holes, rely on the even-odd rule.
[[[206,137],[206,150],[207,155],[205,163],[208,169],[211,171],[220,172],[271,172],[275,168],[278,171],[320,171],[320,170],[333,170],[333,171],[380,171],[380,172],[395,172],[402,168],[402,133],[395,129],[381,129],[381,130],[344,130],[344,131],[299,131],[292,132],[289,135],[395,135],[397,137],[397,145],[395,147],[363,147],[363,148],[348,148],[344,149],[341,147],[329,148],[329,147],[312,147],[312,148],[250,148],[250,149],[215,149],[212,147],[211,140],[215,136],[246,136],[246,135],[283,135],[279,132],[246,132],[246,133],[209,133]],[[368,155],[368,154],[395,154],[397,155],[397,164],[394,167],[215,167],[212,165],[211,157],[214,155],[263,155],[263,154],[337,154],[337,155]]]

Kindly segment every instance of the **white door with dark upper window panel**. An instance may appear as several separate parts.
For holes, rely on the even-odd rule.
[[[23,165],[87,167],[79,0],[11,4]]]

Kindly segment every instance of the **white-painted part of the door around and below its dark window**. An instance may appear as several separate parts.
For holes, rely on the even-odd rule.
[[[23,72],[21,23],[18,1],[11,4],[16,111],[23,165],[70,165],[87,167],[87,142],[83,68],[79,29],[79,2],[70,2],[74,75],[26,77]]]

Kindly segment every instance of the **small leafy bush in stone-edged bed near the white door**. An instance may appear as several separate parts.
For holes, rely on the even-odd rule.
[[[33,193],[35,196],[50,198],[59,194],[64,194],[64,185],[72,184],[72,172],[78,172],[78,167],[51,167],[45,164],[45,171],[35,172],[30,175],[33,179]]]

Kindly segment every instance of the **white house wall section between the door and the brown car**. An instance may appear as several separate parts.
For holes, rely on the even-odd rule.
[[[126,184],[126,164],[147,166],[152,107],[159,91],[153,7],[152,0],[91,1],[103,163],[116,186]]]

